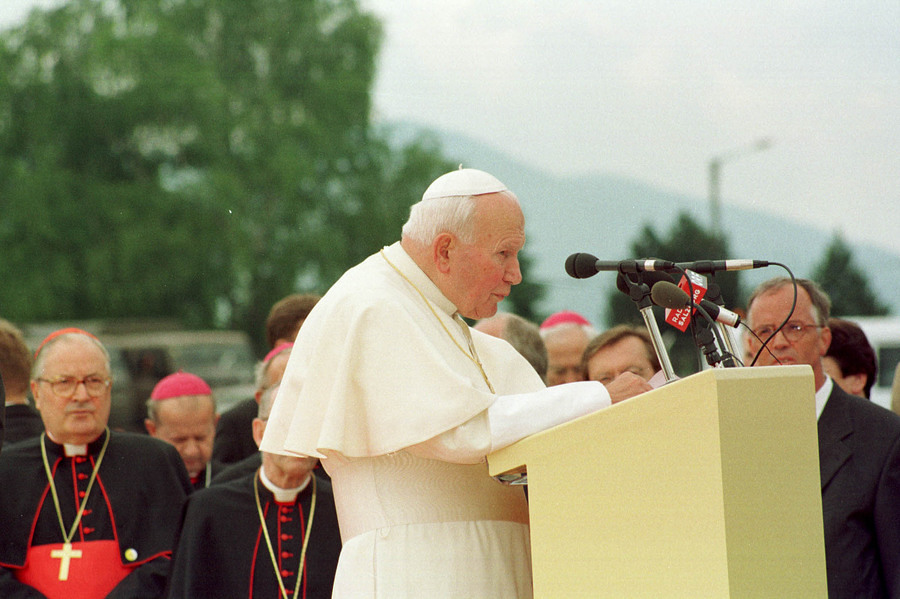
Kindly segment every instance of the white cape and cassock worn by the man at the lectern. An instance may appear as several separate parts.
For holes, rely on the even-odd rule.
[[[261,449],[323,458],[344,543],[335,597],[531,596],[523,491],[493,480],[484,456],[548,411],[489,408],[543,383],[505,341],[471,331],[491,393],[455,312],[396,243],[347,271],[300,329]]]

